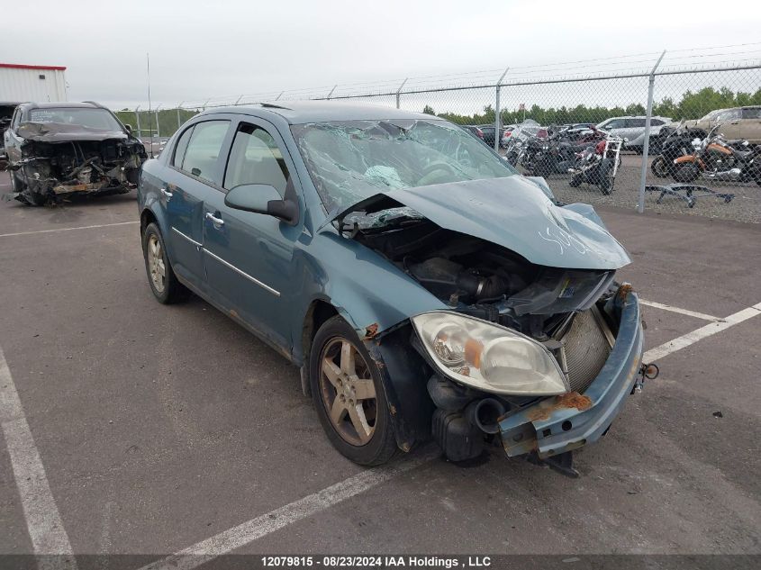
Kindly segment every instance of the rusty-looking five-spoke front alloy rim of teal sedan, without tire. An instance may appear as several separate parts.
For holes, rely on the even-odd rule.
[[[376,430],[376,385],[365,358],[347,339],[331,339],[320,358],[320,391],[333,429],[363,446]]]

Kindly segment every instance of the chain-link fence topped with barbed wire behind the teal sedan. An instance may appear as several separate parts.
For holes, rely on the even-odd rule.
[[[141,135],[164,139],[204,110],[299,99],[356,100],[435,114],[472,125],[501,154],[513,124],[532,120],[546,131],[558,124],[596,124],[626,139],[615,191],[575,184],[567,172],[546,173],[560,200],[761,222],[761,188],[754,179],[731,173],[741,170],[735,155],[724,163],[720,160],[724,178],[697,173],[691,184],[706,190],[689,195],[657,190],[676,180],[669,168],[660,171],[653,166],[678,122],[708,129],[712,125],[706,117],[720,109],[739,113],[737,121],[722,123],[726,139],[746,139],[751,147],[761,148],[761,42],[221,95],[160,104],[150,113],[138,108],[117,114],[123,122],[136,123]],[[744,112],[733,111],[748,105],[757,105],[757,119],[746,120]],[[684,152],[697,156],[692,148]],[[531,174],[521,164],[518,168]],[[711,193],[716,188],[722,190],[719,195]]]

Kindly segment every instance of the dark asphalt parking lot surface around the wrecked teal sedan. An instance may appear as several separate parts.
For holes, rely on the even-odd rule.
[[[293,366],[197,298],[154,301],[134,193],[0,202],[0,553],[761,554],[761,226],[602,217],[666,305],[644,307],[661,375],[568,479],[499,448],[349,463]]]

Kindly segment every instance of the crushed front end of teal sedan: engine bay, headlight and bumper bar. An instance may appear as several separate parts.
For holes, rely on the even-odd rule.
[[[443,303],[412,316],[429,366],[433,439],[448,459],[502,443],[575,475],[641,372],[639,301],[611,268],[548,267],[429,221],[355,231]]]

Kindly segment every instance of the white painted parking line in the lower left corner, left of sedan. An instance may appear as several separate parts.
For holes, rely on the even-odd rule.
[[[45,467],[23,414],[14,379],[0,348],[0,425],[11,457],[29,538],[46,568],[77,568],[58,507],[50,493]]]

